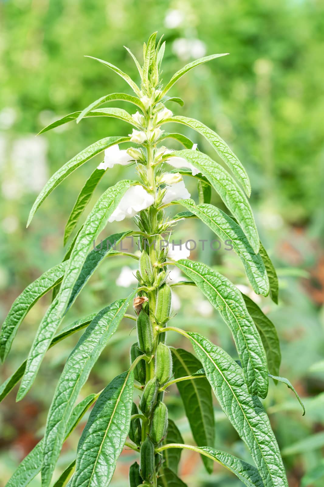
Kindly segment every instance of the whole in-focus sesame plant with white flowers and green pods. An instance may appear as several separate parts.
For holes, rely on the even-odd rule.
[[[144,44],[143,65],[126,48],[137,66],[138,84],[116,66],[96,59],[120,75],[134,93],[104,95],[82,112],[71,113],[40,132],[72,120],[79,123],[85,117],[97,116],[115,117],[132,127],[128,135],[113,135],[91,144],[58,169],[31,209],[28,225],[37,208],[59,183],[104,151],[104,161],[93,170],[81,189],[66,224],[64,244],[69,239],[72,243],[63,262],[45,272],[21,293],[1,329],[0,356],[3,361],[27,312],[41,296],[53,289],[52,303],[39,324],[27,359],[0,388],[0,398],[3,399],[20,380],[17,400],[30,390],[47,350],[84,330],[58,380],[44,437],[21,462],[7,483],[8,487],[27,486],[39,472],[42,486],[49,487],[65,439],[92,405],[76,458],[52,484],[56,487],[108,486],[124,448],[138,453],[138,461],[129,469],[130,487],[185,486],[178,476],[183,449],[200,454],[209,473],[217,462],[246,486],[288,486],[280,451],[259,399],[267,396],[269,377],[274,382],[286,383],[294,391],[287,379],[278,376],[280,348],[275,327],[231,281],[206,264],[189,260],[190,251],[172,241],[172,232],[179,222],[187,218],[200,219],[220,239],[231,243],[254,292],[263,296],[270,294],[277,303],[278,281],[258,237],[248,201],[251,186],[246,170],[214,131],[198,120],[174,115],[169,109],[172,103],[183,105],[182,99],[169,96],[181,76],[202,63],[225,55],[216,54],[191,62],[163,85],[164,45],[161,39],[156,43],[156,33],[152,34]],[[135,106],[135,112],[98,108],[119,100]],[[170,122],[189,127],[203,136],[226,169],[199,151],[197,144],[186,136],[165,131]],[[182,148],[169,150],[168,139],[173,139]],[[131,143],[133,147],[121,149],[124,143]],[[134,179],[125,179],[109,187],[107,172],[117,164],[132,166]],[[198,202],[190,199],[183,176],[196,180]],[[100,180],[107,181],[108,189],[76,232],[79,219]],[[230,214],[210,204],[213,190]],[[172,212],[174,206],[181,206],[182,211]],[[172,216],[166,216],[166,208]],[[133,230],[110,235],[101,242],[100,248],[93,248],[93,242],[103,228],[125,218],[133,218]],[[119,249],[118,245],[130,236],[138,237],[140,253]],[[99,313],[78,319],[58,332],[63,318],[100,263],[108,256],[118,259],[123,253],[139,263],[137,287],[126,298],[116,300]],[[182,273],[182,280],[170,281],[172,266]],[[190,285],[197,286],[218,310],[224,326],[226,324],[232,332],[236,357],[231,357],[198,332],[172,326],[171,287],[176,285],[186,285],[188,292]],[[134,311],[127,314],[130,306]],[[109,346],[109,339],[123,318],[135,321],[137,329],[128,370],[115,377],[102,391],[91,393],[76,404],[92,367]],[[131,329],[133,322],[130,323]],[[188,347],[168,346],[169,334],[182,335]],[[172,384],[177,384],[183,402],[193,436],[191,444],[183,443],[177,425],[168,419],[163,396]],[[214,448],[213,394],[245,442],[254,465]]]

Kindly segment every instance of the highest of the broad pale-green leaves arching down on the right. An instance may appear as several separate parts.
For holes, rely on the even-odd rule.
[[[246,194],[248,196],[251,195],[251,183],[248,173],[246,172],[242,163],[239,161],[234,152],[228,147],[226,142],[216,132],[212,131],[209,127],[199,122],[199,120],[183,117],[181,115],[174,116],[164,121],[164,123],[167,122],[182,123],[183,125],[191,127],[192,129],[203,135],[205,139],[210,143],[210,145],[216,150],[219,157],[232,170],[234,176],[242,185]]]

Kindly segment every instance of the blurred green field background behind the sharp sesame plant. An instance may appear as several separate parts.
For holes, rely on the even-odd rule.
[[[166,81],[196,57],[230,53],[184,76],[172,94],[180,95],[185,106],[169,108],[216,130],[252,180],[251,203],[261,240],[278,269],[280,302],[275,306],[270,299],[252,299],[258,299],[275,323],[282,346],[281,375],[290,379],[306,405],[302,417],[300,405],[283,384],[271,384],[264,401],[283,452],[289,487],[320,487],[324,480],[323,14],[324,3],[316,0],[0,0],[1,318],[28,283],[62,259],[65,222],[85,179],[101,159],[91,160],[55,189],[26,230],[29,209],[47,178],[94,141],[129,132],[123,122],[98,118],[35,137],[43,126],[104,94],[129,93],[121,78],[83,56],[106,59],[138,81],[123,45],[141,57],[143,42],[158,30],[166,40],[162,74]],[[131,110],[123,103],[118,106]],[[183,133],[215,157],[197,134],[186,129]],[[95,196],[133,175],[133,167],[109,170]],[[192,180],[186,186],[197,196]],[[216,195],[213,203],[220,205]],[[131,225],[131,221],[115,223],[105,236]],[[209,238],[206,228],[188,221],[179,225],[175,238],[202,236]],[[196,250],[192,258],[217,266],[235,284],[247,286],[232,254]],[[65,324],[129,294],[115,282],[121,267],[134,269],[133,262],[110,259],[90,280]],[[174,324],[208,335],[236,358],[225,324],[199,292],[180,288],[177,293]],[[1,368],[2,381],[27,356],[49,302],[50,296],[42,298],[24,320]],[[122,323],[81,397],[101,390],[127,368],[129,346],[135,341],[129,323]],[[24,400],[16,404],[13,391],[1,404],[0,486],[41,438],[55,383],[77,339],[70,337],[49,351]],[[180,338],[170,340],[187,347]],[[192,442],[176,389],[166,402],[185,441]],[[216,448],[249,460],[216,402],[215,414]],[[55,476],[74,457],[82,427],[64,445]],[[135,455],[124,451],[112,486],[127,484]],[[217,466],[208,476],[200,458],[190,452],[182,453],[180,472],[189,487],[241,485]],[[40,486],[40,479],[31,485]]]

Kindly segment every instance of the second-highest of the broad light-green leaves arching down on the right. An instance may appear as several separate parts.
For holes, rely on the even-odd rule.
[[[176,150],[168,156],[182,157],[198,168],[232,212],[247,236],[254,252],[259,252],[259,236],[254,222],[251,206],[243,190],[232,176],[213,159],[198,150]]]

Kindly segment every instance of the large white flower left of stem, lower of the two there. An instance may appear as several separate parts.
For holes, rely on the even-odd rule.
[[[132,218],[136,213],[148,208],[153,203],[153,196],[148,194],[143,186],[131,186],[127,189],[119,205],[108,219],[108,222],[121,222],[125,217]]]

